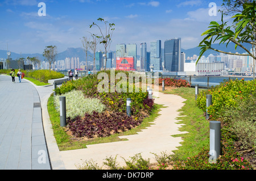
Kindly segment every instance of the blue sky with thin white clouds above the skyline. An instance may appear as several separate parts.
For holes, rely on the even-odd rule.
[[[46,16],[39,16],[39,2],[46,3]],[[69,47],[82,47],[81,38],[89,32],[98,18],[115,24],[113,42],[116,44],[147,43],[181,37],[184,49],[196,47],[201,33],[210,21],[219,21],[221,14],[209,15],[209,3],[219,9],[222,1],[205,0],[3,0],[0,1],[0,49],[15,53],[43,53],[48,45],[56,45],[58,52]],[[103,49],[98,45],[98,50]]]

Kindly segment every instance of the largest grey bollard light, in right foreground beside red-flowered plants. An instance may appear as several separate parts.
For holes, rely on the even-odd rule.
[[[221,122],[210,122],[210,151],[209,162],[216,163],[216,159],[221,155]]]

